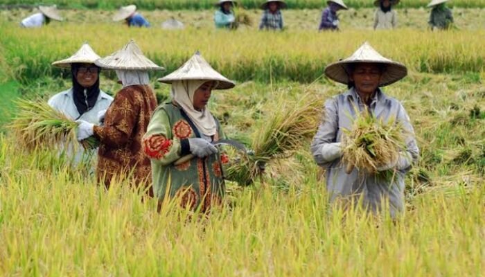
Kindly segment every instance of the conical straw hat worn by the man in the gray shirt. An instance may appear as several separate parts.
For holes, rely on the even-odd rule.
[[[335,82],[342,84],[349,84],[349,75],[347,74],[347,66],[349,64],[360,63],[376,63],[384,64],[386,66],[385,71],[382,73],[382,77],[379,83],[379,87],[387,86],[397,82],[407,75],[407,68],[399,62],[394,62],[386,57],[382,57],[372,46],[365,42],[360,48],[355,51],[350,57],[345,60],[335,62],[328,65],[325,68],[325,75]]]

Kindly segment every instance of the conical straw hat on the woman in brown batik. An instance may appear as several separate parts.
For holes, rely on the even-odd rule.
[[[120,50],[96,60],[95,64],[102,69],[165,70],[163,67],[157,66],[157,64],[148,60],[133,39]]]

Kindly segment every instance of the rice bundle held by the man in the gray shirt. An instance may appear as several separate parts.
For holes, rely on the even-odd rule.
[[[342,161],[346,172],[353,168],[377,173],[378,168],[396,163],[405,148],[403,128],[399,123],[378,120],[369,111],[360,113],[351,130],[344,130]]]

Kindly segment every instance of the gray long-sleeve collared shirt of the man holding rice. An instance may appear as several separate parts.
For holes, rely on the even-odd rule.
[[[369,106],[369,110],[377,118],[382,118],[384,122],[389,120],[399,122],[405,131],[407,149],[403,150],[403,154],[410,157],[411,161],[405,168],[397,168],[392,184],[368,172],[359,172],[357,168],[347,174],[346,165],[342,164],[341,158],[328,161],[326,153],[321,151],[322,146],[327,143],[342,141],[342,130],[351,129],[353,118],[363,109],[365,104],[353,88],[327,100],[324,118],[310,149],[318,165],[326,168],[326,186],[331,202],[338,197],[362,196],[364,206],[371,208],[372,211],[378,211],[381,202],[388,200],[391,216],[395,217],[396,213],[403,211],[404,208],[405,173],[409,171],[411,164],[417,161],[419,155],[414,129],[403,105],[398,100],[386,96],[378,89]]]

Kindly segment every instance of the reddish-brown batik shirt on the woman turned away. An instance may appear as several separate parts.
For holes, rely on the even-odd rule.
[[[128,86],[116,93],[106,111],[105,125],[94,127],[94,135],[100,140],[96,173],[107,188],[112,178],[124,179],[129,174],[135,186],[150,186],[150,159],[143,154],[141,139],[156,107],[150,87]],[[151,188],[148,193],[152,195]]]

